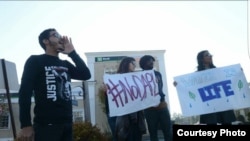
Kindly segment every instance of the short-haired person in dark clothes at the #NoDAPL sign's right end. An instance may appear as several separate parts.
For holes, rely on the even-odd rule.
[[[152,70],[154,68],[154,57],[151,55],[144,55],[140,59],[140,67],[143,70]],[[150,141],[158,141],[158,127],[160,126],[165,141],[172,141],[172,123],[170,118],[170,113],[165,102],[165,94],[163,93],[163,82],[161,73],[154,71],[156,76],[156,81],[159,88],[160,101],[157,107],[150,107],[144,110],[145,118],[148,125],[148,130],[150,134]]]

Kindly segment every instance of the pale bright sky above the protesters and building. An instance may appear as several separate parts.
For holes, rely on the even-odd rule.
[[[248,1],[0,1],[0,59],[43,54],[38,35],[56,28],[86,52],[166,50],[170,112],[181,113],[175,76],[196,71],[209,50],[217,67],[240,64],[250,80]],[[60,56],[62,59],[68,59]]]

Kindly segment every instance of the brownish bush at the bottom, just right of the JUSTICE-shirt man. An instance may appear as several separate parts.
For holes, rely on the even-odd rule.
[[[74,141],[109,141],[110,135],[102,133],[90,122],[76,122],[73,124],[73,138]]]

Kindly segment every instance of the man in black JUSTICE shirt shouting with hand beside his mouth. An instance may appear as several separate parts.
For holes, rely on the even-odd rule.
[[[71,38],[56,29],[44,30],[39,43],[45,54],[31,55],[24,65],[19,89],[21,141],[72,141],[71,79],[88,80],[90,70],[77,54]],[[65,54],[74,64],[61,60]],[[31,120],[31,98],[35,107]]]

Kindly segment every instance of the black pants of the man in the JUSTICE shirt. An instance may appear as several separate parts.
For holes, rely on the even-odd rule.
[[[72,141],[72,123],[34,124],[35,141]]]

